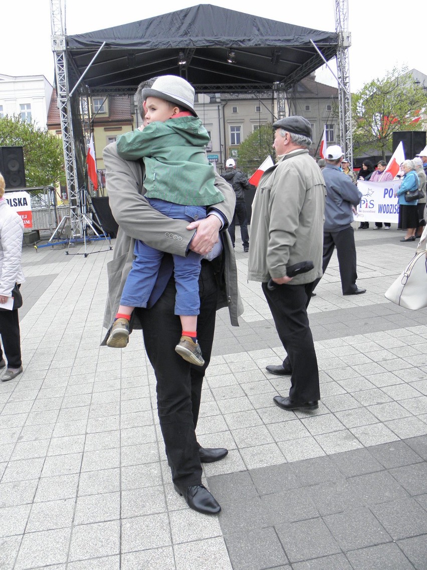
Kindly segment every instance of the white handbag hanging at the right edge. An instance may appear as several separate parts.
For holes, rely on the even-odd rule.
[[[407,309],[427,307],[427,226],[414,257],[384,295],[389,301]]]

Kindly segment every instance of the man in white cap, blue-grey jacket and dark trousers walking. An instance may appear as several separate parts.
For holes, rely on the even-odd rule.
[[[325,273],[336,247],[343,295],[361,295],[366,293],[366,289],[356,285],[356,246],[351,222],[354,219],[353,207],[359,204],[362,193],[340,169],[343,156],[338,145],[326,149],[326,166],[322,170],[326,184],[322,269]],[[315,284],[319,281],[317,279]]]

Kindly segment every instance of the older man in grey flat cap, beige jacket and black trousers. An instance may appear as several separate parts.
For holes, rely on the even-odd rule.
[[[320,398],[319,371],[307,306],[315,279],[322,276],[325,181],[308,151],[310,123],[286,117],[273,128],[273,147],[281,159],[262,174],[252,204],[248,278],[262,283],[288,354],[282,364],[267,367],[270,373],[291,375],[289,396],[275,396],[274,402],[285,410],[314,410]],[[287,275],[287,266],[305,261],[314,268],[293,278]]]

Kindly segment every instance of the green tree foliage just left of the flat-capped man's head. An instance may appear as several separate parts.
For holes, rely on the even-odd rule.
[[[237,158],[239,169],[251,176],[269,154],[274,161],[273,141],[274,132],[271,123],[261,125],[259,129],[247,136],[239,146],[239,158]]]

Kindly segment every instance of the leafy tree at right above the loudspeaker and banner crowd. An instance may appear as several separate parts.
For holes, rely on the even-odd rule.
[[[421,131],[424,89],[417,86],[407,68],[394,68],[383,78],[364,84],[352,96],[355,152],[377,151],[385,159],[392,150],[393,132]],[[414,122],[416,120],[416,122]]]

